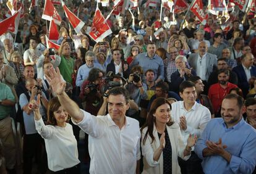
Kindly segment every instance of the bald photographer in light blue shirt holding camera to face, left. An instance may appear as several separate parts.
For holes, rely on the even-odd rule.
[[[23,138],[23,171],[24,173],[32,173],[33,157],[35,157],[36,163],[39,165],[41,171],[45,170],[46,165],[44,165],[45,163],[41,160],[43,139],[35,129],[35,120],[32,109],[29,107],[29,103],[33,99],[36,99],[36,96],[40,94],[40,101],[42,104],[40,107],[40,114],[42,115],[43,120],[46,121],[45,109],[47,109],[48,100],[35,79],[28,78],[25,82],[25,87],[28,91],[20,95],[19,101],[20,107],[23,110],[23,120],[25,125],[25,134]]]

